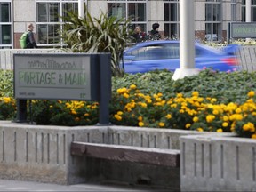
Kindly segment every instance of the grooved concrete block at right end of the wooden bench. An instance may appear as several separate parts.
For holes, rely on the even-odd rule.
[[[256,140],[220,135],[180,137],[181,191],[256,190]]]

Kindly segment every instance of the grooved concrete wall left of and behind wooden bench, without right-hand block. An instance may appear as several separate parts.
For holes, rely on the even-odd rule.
[[[119,180],[180,188],[180,167],[116,163],[71,156],[72,141],[180,149],[180,136],[199,132],[120,126],[44,126],[0,121],[0,178],[75,184]],[[146,171],[148,170],[148,171]],[[172,180],[170,180],[172,179]]]

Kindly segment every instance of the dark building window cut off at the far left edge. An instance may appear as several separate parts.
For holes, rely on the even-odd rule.
[[[11,1],[0,2],[0,49],[12,48]]]

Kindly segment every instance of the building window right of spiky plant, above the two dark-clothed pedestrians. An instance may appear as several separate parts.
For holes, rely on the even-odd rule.
[[[115,16],[116,20],[132,19],[132,28],[140,25],[142,31],[148,32],[146,0],[108,0],[108,17]]]

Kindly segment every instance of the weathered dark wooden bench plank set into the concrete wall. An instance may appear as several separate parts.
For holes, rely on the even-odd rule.
[[[180,150],[72,142],[71,155],[180,167]]]

